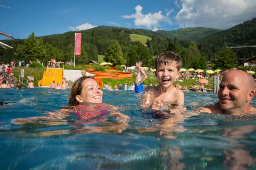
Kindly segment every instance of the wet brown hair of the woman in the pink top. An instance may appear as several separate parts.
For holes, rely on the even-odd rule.
[[[81,95],[81,92],[83,89],[83,85],[82,85],[83,81],[87,78],[94,79],[93,76],[82,76],[77,81],[75,81],[75,83],[72,85],[72,88],[70,90],[69,102],[68,102],[69,105],[76,106],[79,104],[79,102],[76,100],[76,96]]]

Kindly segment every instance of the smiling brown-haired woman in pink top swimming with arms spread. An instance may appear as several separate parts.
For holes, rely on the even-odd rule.
[[[107,132],[113,130],[121,133],[122,130],[127,128],[130,117],[117,112],[118,107],[102,103],[102,96],[103,92],[99,88],[96,80],[92,76],[83,76],[73,84],[68,106],[63,106],[60,110],[54,112],[48,112],[47,115],[43,117],[14,119],[13,122],[18,125],[23,125],[25,123],[37,122],[40,119],[64,119],[75,112],[81,120],[88,120],[87,125],[79,129],[81,133]],[[101,119],[92,119],[98,116],[103,117]],[[88,126],[92,123],[107,122],[108,117],[114,118],[118,124],[113,125],[113,123],[109,123],[109,125],[105,125],[104,127]],[[74,122],[81,124],[81,120],[78,121],[75,119]]]

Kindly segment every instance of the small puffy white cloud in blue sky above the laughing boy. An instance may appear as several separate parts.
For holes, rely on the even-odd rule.
[[[167,11],[167,16],[162,15],[162,11],[158,11],[157,13],[148,13],[148,14],[142,14],[142,6],[137,5],[135,7],[135,14],[131,15],[124,15],[121,16],[122,18],[133,18],[134,25],[135,26],[145,26],[147,28],[151,28],[152,26],[157,27],[160,26],[159,22],[164,21],[168,24],[171,24],[171,19],[168,17],[168,15],[172,12],[172,10]]]

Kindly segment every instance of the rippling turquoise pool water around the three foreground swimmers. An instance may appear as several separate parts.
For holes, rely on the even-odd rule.
[[[165,127],[165,118],[137,106],[140,94],[105,90],[103,101],[131,117],[121,131],[107,116],[81,120],[76,113],[19,124],[58,112],[69,90],[0,94],[1,169],[256,169],[256,116],[201,113]],[[217,101],[211,92],[184,94],[188,110]]]

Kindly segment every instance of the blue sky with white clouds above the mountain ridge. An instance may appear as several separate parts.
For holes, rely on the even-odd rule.
[[[255,9],[256,0],[0,0],[0,31],[26,39],[32,31],[40,37],[103,25],[228,29],[255,18]]]

